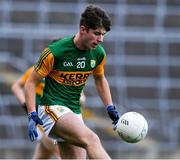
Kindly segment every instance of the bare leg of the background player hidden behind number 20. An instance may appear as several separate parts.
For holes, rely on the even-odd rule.
[[[33,159],[50,159],[56,157],[61,159],[57,144],[47,136],[43,136],[41,141],[37,142]]]

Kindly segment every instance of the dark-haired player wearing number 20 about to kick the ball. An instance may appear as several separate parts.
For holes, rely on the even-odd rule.
[[[79,102],[92,74],[113,124],[119,120],[104,75],[106,54],[100,45],[110,26],[110,18],[103,9],[88,5],[81,14],[78,33],[50,44],[25,84],[29,137],[36,140],[36,125],[43,125],[45,133],[58,140],[62,159],[85,159],[86,153],[90,159],[110,159],[99,137],[83,123]],[[45,88],[37,113],[35,88],[43,78]]]

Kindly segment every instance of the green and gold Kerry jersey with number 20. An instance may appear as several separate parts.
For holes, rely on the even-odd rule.
[[[42,105],[63,105],[80,113],[80,94],[90,74],[103,75],[106,54],[101,45],[81,51],[73,37],[61,39],[46,48],[35,65],[45,78]]]

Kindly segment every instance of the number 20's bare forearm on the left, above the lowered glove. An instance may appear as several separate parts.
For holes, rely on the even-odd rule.
[[[35,89],[36,89],[35,83],[33,83],[31,81],[26,82],[26,84],[25,84],[25,100],[26,100],[28,113],[36,111]]]

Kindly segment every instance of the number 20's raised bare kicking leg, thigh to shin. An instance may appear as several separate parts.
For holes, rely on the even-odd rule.
[[[74,113],[66,113],[61,116],[51,133],[64,138],[68,143],[83,147],[90,159],[110,159],[101,145],[99,137]],[[83,159],[84,157],[78,158]]]

